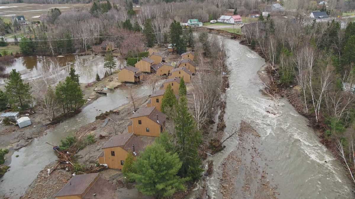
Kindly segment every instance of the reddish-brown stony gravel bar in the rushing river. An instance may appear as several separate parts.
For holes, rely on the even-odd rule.
[[[254,198],[276,199],[277,187],[267,177],[267,159],[258,150],[260,135],[253,127],[242,121],[239,145],[224,159],[220,192],[224,199]]]

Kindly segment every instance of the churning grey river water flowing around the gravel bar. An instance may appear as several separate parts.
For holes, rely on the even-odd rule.
[[[257,71],[265,63],[264,59],[238,41],[226,39],[226,45],[231,70],[226,131],[236,121],[251,122],[261,135],[262,145],[258,150],[268,161],[268,178],[277,185],[278,198],[352,198],[352,184],[343,166],[307,127],[307,119],[285,99],[275,102],[259,91]],[[224,151],[211,158],[214,172],[207,180],[207,192],[212,198],[223,197],[218,179],[222,176],[220,165],[238,146],[238,139],[229,140],[225,145]]]

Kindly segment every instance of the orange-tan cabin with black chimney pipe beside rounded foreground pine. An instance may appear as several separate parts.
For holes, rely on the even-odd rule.
[[[133,133],[114,135],[102,147],[103,151],[98,156],[99,164],[107,164],[111,169],[122,169],[128,153],[138,155],[144,149],[143,145],[141,138]]]

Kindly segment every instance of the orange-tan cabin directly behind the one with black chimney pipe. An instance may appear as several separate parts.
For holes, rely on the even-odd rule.
[[[131,117],[128,132],[134,135],[159,137],[165,129],[166,115],[154,106],[140,108]]]

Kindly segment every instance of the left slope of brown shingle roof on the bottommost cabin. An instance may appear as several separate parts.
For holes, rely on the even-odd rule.
[[[85,189],[98,175],[99,173],[75,175],[55,197],[83,194]]]

